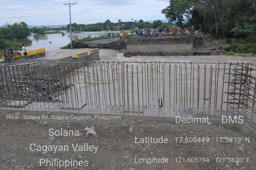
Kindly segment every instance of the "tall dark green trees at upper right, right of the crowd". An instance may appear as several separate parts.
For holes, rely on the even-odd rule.
[[[232,37],[232,28],[244,22],[256,22],[256,8],[253,0],[170,0],[162,10],[171,22],[193,25],[214,37]]]

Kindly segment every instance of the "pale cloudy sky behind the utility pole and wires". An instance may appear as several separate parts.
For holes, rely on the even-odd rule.
[[[168,0],[0,0],[0,26],[15,22],[28,25],[56,25],[69,23],[69,7],[63,3],[77,3],[71,7],[71,22],[90,24],[165,19],[161,10]]]

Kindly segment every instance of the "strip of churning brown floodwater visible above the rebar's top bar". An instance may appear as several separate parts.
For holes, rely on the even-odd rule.
[[[88,51],[90,48],[79,49],[59,49],[46,51],[46,58],[57,59],[59,57],[65,57],[72,55],[75,57],[76,53]],[[128,62],[202,62],[202,63],[216,63],[216,62],[245,62],[256,63],[256,57],[242,57],[242,56],[225,56],[225,55],[210,55],[210,56],[135,56],[124,57],[123,53],[120,53],[114,49],[99,49],[100,60],[108,61],[128,61]]]

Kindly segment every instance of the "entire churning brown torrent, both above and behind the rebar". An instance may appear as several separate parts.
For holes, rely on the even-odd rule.
[[[74,56],[75,53],[88,50],[81,48],[47,51],[46,57],[53,59],[60,55]],[[169,115],[170,110],[164,113],[157,111],[159,100],[163,100],[165,109],[190,108],[191,110],[192,108],[194,114],[216,114],[215,109],[222,107],[222,100],[227,101],[225,92],[228,91],[228,86],[223,82],[227,82],[229,78],[224,74],[222,63],[256,62],[256,57],[225,55],[126,58],[123,53],[113,49],[99,49],[99,55],[100,60],[115,61],[115,63],[94,64],[70,73],[71,77],[74,76],[74,79],[70,79],[74,84],[71,87],[73,93],[63,92],[62,96],[62,100],[66,100],[69,107],[81,107],[87,103],[87,111],[111,112],[110,107],[115,106],[112,112],[123,112],[128,109],[139,110],[142,113],[144,109],[148,109],[147,114]],[[118,61],[134,63],[118,64]],[[145,64],[136,62],[145,62]],[[175,65],[169,62],[177,63]],[[187,62],[187,64],[179,64],[179,62]],[[218,65],[216,64],[218,62],[221,63]],[[228,68],[229,66],[226,65],[226,73]],[[227,104],[223,104],[223,109],[226,107]]]

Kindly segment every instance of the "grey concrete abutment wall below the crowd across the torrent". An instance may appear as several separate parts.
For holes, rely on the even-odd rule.
[[[174,52],[191,51],[193,44],[176,45],[127,45],[127,52]]]

